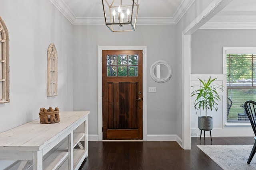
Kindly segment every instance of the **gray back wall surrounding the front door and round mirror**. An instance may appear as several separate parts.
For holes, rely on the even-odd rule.
[[[176,134],[176,26],[136,25],[135,32],[112,33],[106,25],[74,25],[74,110],[90,110],[88,133],[98,134],[98,46],[147,46],[147,132]],[[173,76],[165,83],[154,82],[150,66],[165,60]],[[148,90],[147,90],[148,91]],[[144,92],[145,93],[145,92]]]

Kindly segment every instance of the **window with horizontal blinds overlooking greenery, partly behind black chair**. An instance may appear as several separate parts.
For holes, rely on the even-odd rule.
[[[227,122],[248,122],[244,102],[256,101],[256,54],[227,54]]]

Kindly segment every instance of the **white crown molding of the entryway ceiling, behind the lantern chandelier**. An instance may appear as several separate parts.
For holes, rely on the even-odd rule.
[[[173,17],[137,18],[137,25],[175,25],[190,8],[195,0],[183,0]],[[74,13],[62,0],[50,0],[52,4],[72,23],[73,25],[105,25],[104,18],[76,17]]]

